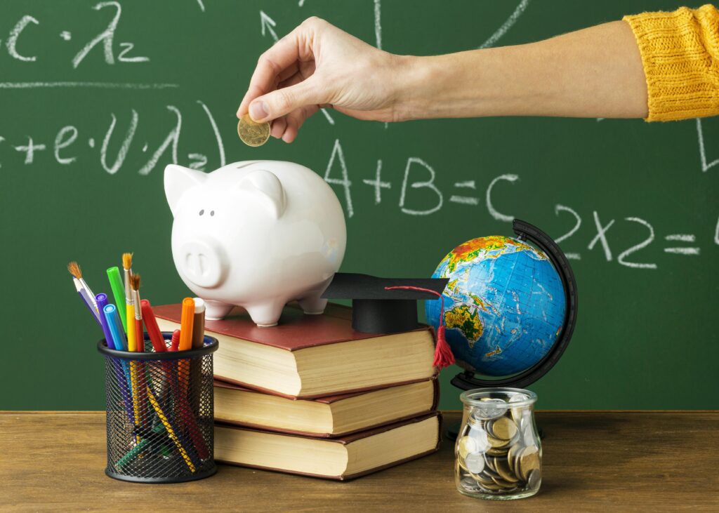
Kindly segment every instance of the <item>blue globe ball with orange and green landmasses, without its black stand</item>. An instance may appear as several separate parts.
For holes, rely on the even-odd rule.
[[[479,237],[439,262],[446,340],[457,364],[487,376],[529,369],[549,352],[564,325],[564,287],[546,255],[516,239]],[[437,328],[441,301],[425,301]]]

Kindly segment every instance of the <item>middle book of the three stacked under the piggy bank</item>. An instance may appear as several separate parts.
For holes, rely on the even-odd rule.
[[[317,437],[337,437],[436,409],[436,379],[316,399],[288,399],[215,380],[215,421]]]

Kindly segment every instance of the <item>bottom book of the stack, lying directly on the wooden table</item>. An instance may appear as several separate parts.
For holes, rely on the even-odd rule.
[[[215,425],[215,460],[346,480],[433,453],[440,440],[437,412],[341,438]]]

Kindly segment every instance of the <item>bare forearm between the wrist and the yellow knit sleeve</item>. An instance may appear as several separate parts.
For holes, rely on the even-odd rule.
[[[647,115],[644,69],[626,22],[529,45],[403,59],[398,119]]]

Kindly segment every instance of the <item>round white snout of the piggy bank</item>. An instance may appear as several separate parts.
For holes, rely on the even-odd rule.
[[[221,285],[226,259],[216,241],[205,237],[192,239],[181,244],[178,251],[178,262],[187,279],[206,289]]]

